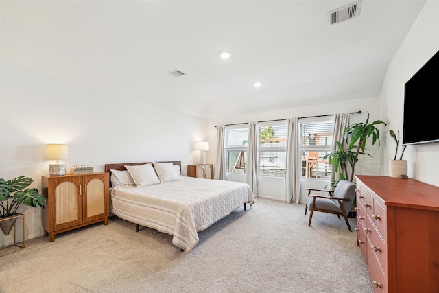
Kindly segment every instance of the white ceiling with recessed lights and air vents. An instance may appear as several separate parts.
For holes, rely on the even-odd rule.
[[[352,2],[1,1],[1,59],[201,117],[376,97],[425,0]]]

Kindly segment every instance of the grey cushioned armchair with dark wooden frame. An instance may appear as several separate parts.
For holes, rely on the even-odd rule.
[[[311,226],[311,220],[313,218],[314,211],[322,211],[323,213],[333,213],[337,215],[340,219],[340,215],[344,217],[346,224],[348,225],[349,231],[351,230],[351,225],[348,222],[348,212],[351,210],[352,204],[355,199],[355,183],[348,180],[340,180],[337,183],[335,190],[327,189],[315,189],[315,188],[305,188],[308,190],[307,204],[305,206],[305,215],[307,214],[307,209],[311,211],[309,214],[308,226]],[[311,191],[323,191],[327,192],[327,196],[320,196],[316,194],[311,194]]]

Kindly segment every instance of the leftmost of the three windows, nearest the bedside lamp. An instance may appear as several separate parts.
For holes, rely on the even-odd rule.
[[[246,173],[248,126],[226,127],[227,173]]]

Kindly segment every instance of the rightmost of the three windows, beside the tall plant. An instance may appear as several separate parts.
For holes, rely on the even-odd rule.
[[[299,119],[299,132],[302,159],[300,178],[330,178],[331,166],[324,156],[332,148],[332,117]]]

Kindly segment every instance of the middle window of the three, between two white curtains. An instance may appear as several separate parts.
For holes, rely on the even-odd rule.
[[[284,176],[287,167],[287,123],[258,124],[259,175]]]

